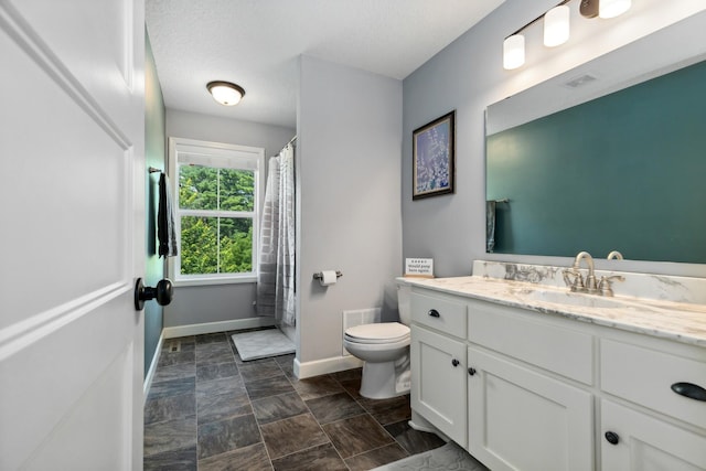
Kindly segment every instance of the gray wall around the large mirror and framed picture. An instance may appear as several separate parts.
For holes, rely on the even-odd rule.
[[[570,265],[566,257],[485,254],[485,107],[706,9],[706,2],[694,0],[634,1],[617,19],[579,19],[571,24],[571,40],[555,49],[533,49],[533,41],[541,44],[538,22],[527,31],[526,65],[504,71],[503,39],[555,4],[556,0],[506,0],[404,81],[403,254],[432,257],[437,276],[468,275],[474,259]],[[685,35],[689,39],[700,41],[698,34]],[[413,202],[411,132],[452,109],[457,110],[456,194]],[[623,267],[706,276],[705,265],[625,261]]]

